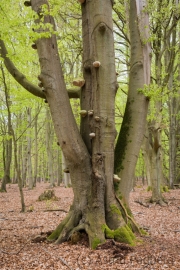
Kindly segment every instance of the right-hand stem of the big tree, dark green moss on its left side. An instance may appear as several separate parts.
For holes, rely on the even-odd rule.
[[[131,59],[129,92],[125,114],[115,148],[115,173],[121,178],[119,192],[126,205],[133,187],[133,177],[146,126],[148,98],[142,93],[150,83],[150,45],[148,15],[144,1],[130,1]]]

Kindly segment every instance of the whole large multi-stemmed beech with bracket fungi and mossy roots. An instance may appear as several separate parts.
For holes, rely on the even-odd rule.
[[[104,243],[106,238],[133,244],[132,231],[136,230],[137,226],[129,216],[127,208],[117,197],[113,183],[116,138],[114,102],[118,88],[112,23],[113,0],[79,0],[79,2],[82,9],[84,82],[79,82],[78,94],[68,93],[66,89],[56,35],[52,33],[49,37],[43,37],[44,33],[49,32],[49,25],[53,29],[55,27],[54,18],[48,12],[43,14],[42,7],[49,9],[46,0],[25,2],[38,14],[37,25],[40,20],[43,22],[43,26],[36,30],[39,38],[34,44],[37,48],[41,69],[38,79],[43,86],[43,91],[27,82],[26,78],[15,68],[7,56],[3,41],[0,43],[1,55],[7,69],[21,85],[33,94],[47,100],[58,143],[70,171],[74,200],[69,213],[49,236],[49,240],[61,243],[69,239],[74,232],[84,230],[88,234],[91,248],[96,248],[98,244]],[[135,103],[135,99],[138,100],[138,103],[135,103],[136,107],[147,107],[146,98],[137,90],[148,81],[145,79],[149,76],[144,61],[145,53],[147,58],[149,56],[148,52],[141,49],[135,50],[139,46],[141,48],[146,46],[145,37],[143,37],[144,43],[140,40],[142,24],[138,23],[138,14],[143,8],[143,3],[144,1],[140,0],[130,1],[130,14],[134,16],[131,26],[135,26],[130,31],[132,38],[133,35],[135,37],[134,50],[132,50],[133,53],[131,52],[131,58],[134,59],[131,69],[134,78],[136,70],[140,70],[138,74],[141,74],[141,79],[140,77],[137,79],[140,83],[135,84],[134,87],[130,83],[131,89],[136,91],[136,95],[129,98],[130,118],[128,119],[130,122],[125,124],[131,126],[133,125],[133,118],[131,118],[133,108],[130,109],[130,106],[133,102]],[[133,55],[136,53],[137,57],[134,57]],[[132,93],[131,91],[129,93]],[[73,94],[80,97],[82,116],[80,131],[69,102],[69,95]],[[130,157],[130,159],[134,159],[134,168],[143,137],[146,113],[147,109],[136,114],[136,117],[143,117],[142,121],[137,123],[135,129],[128,130],[128,134],[134,134],[134,137],[132,135],[129,140],[126,140],[127,145],[138,136],[136,142],[138,147],[132,148],[134,153]],[[135,134],[138,127],[139,131]],[[123,150],[123,159],[126,158],[125,149],[126,147]],[[124,164],[124,169],[126,166],[129,166],[128,162]],[[133,167],[131,172],[131,175],[128,174],[129,179],[125,179],[127,185],[128,181],[132,179]],[[128,200],[128,196],[126,197]]]

